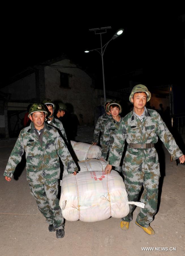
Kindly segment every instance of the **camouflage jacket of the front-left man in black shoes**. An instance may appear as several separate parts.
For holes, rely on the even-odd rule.
[[[68,173],[73,173],[76,167],[63,139],[58,131],[44,123],[42,146],[39,142],[37,131],[33,122],[25,127],[19,134],[15,146],[10,154],[4,176],[12,177],[21,157],[26,153],[27,179],[30,172],[42,172],[46,181],[58,179],[60,175],[59,157]]]

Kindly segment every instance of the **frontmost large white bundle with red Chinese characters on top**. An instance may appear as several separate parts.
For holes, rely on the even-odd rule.
[[[144,203],[128,202],[122,177],[114,170],[110,174],[90,171],[64,176],[59,205],[66,220],[95,222],[111,216],[123,218],[129,204],[144,208]]]

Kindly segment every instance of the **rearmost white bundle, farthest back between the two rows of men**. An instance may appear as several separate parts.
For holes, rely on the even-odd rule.
[[[83,161],[88,158],[101,158],[101,147],[97,145],[71,141],[71,146],[78,158],[78,161]]]

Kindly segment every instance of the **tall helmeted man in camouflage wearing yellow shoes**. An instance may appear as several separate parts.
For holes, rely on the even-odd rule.
[[[105,173],[110,173],[112,165],[119,166],[126,139],[128,146],[124,157],[123,175],[128,200],[137,201],[141,188],[144,187],[141,201],[145,203],[145,208],[141,208],[135,224],[147,234],[154,235],[150,222],[157,210],[160,177],[158,154],[154,143],[158,141],[159,136],[174,159],[179,158],[183,163],[185,156],[159,113],[146,109],[146,101],[149,101],[150,97],[150,92],[142,84],[132,89],[129,101],[133,103],[134,108],[120,123],[114,142],[110,146],[109,164],[105,168]],[[134,206],[130,206],[129,214],[122,218],[120,226],[123,230],[128,230],[133,210]]]

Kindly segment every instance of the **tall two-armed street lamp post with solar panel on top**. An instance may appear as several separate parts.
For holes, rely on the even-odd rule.
[[[104,102],[106,102],[106,93],[105,93],[105,76],[104,76],[104,65],[103,65],[103,54],[105,52],[105,49],[107,47],[107,45],[109,44],[109,42],[111,40],[114,40],[115,38],[117,38],[118,36],[120,36],[123,32],[124,29],[119,29],[118,31],[116,31],[116,33],[114,34],[114,36],[112,36],[112,38],[104,45],[102,46],[102,39],[101,39],[101,34],[107,33],[107,29],[111,28],[111,27],[103,27],[103,28],[93,28],[90,29],[90,31],[95,31],[95,34],[99,34],[100,35],[100,41],[101,41],[101,48],[97,48],[97,49],[91,49],[91,50],[86,50],[84,51],[85,53],[88,53],[90,51],[97,51],[99,52],[99,54],[101,55],[101,62],[102,62],[102,75],[103,75],[103,95],[104,95]]]

